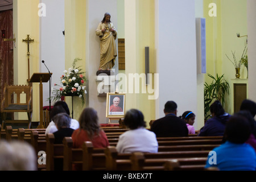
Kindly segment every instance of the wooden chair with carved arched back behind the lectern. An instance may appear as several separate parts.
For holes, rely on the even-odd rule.
[[[16,99],[15,99],[16,94]],[[24,97],[26,99],[22,99]],[[16,102],[14,102],[16,101]],[[7,113],[27,113],[27,120],[7,120]],[[31,128],[32,118],[32,86],[30,85],[6,85],[3,89],[3,100],[1,101],[2,130],[6,123],[28,123]]]

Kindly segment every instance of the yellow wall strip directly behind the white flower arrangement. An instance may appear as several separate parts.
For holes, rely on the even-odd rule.
[[[65,69],[72,67],[76,57],[82,59],[76,65],[85,71],[85,44],[86,44],[86,1],[65,0]],[[86,98],[86,96],[84,96]],[[66,97],[69,110],[72,112],[72,99]],[[86,102],[86,100],[85,100]],[[73,97],[74,119],[79,119],[82,109],[80,98]]]

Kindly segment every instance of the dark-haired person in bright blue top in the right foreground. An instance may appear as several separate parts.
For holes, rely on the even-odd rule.
[[[245,143],[250,134],[251,126],[245,117],[238,114],[230,117],[225,128],[226,142],[213,148],[205,167],[217,167],[220,171],[255,171],[255,151]]]

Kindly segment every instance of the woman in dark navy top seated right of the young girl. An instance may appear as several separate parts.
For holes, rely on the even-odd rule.
[[[231,115],[225,113],[220,101],[214,101],[213,104],[210,105],[210,113],[212,114],[212,118],[205,122],[198,136],[223,136],[226,122]]]

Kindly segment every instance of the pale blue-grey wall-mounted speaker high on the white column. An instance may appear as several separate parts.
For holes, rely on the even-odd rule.
[[[196,18],[197,73],[206,73],[206,28],[205,18]]]

